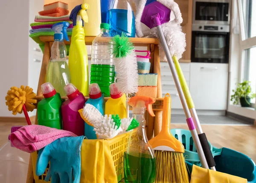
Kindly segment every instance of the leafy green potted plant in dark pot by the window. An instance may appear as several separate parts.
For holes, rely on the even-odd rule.
[[[242,107],[250,107],[250,100],[255,97],[255,93],[252,93],[250,81],[245,80],[243,83],[236,84],[236,90],[231,95],[231,101],[234,105],[241,104]]]

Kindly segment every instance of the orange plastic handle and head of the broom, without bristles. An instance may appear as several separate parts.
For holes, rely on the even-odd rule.
[[[171,102],[170,94],[166,94],[163,99],[162,130],[156,137],[149,140],[149,143],[154,150],[184,153],[184,146],[170,132]]]

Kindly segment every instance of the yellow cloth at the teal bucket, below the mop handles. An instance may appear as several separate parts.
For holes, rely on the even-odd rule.
[[[190,183],[247,183],[247,179],[193,165]]]

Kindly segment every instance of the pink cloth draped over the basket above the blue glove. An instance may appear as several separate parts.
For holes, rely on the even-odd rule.
[[[11,133],[12,144],[22,151],[32,153],[62,137],[76,137],[76,134],[41,125],[27,125]]]

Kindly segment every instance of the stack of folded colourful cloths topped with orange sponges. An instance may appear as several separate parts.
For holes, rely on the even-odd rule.
[[[44,5],[44,11],[38,12],[40,15],[35,16],[35,23],[31,23],[31,30],[29,30],[29,37],[39,44],[42,51],[44,51],[44,42],[40,36],[53,36],[54,31],[51,30],[53,24],[66,21],[70,23],[67,28],[67,35],[72,35],[73,22],[69,18],[68,5],[60,1]],[[69,50],[69,46],[67,45]]]

